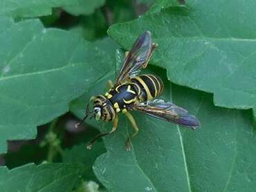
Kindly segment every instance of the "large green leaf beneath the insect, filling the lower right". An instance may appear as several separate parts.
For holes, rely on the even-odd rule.
[[[71,111],[82,117],[84,104],[92,95],[104,93],[107,79],[114,79],[114,73],[73,102]],[[132,112],[140,132],[127,152],[125,140],[132,128],[120,115],[118,131],[103,139],[107,153],[93,166],[100,182],[109,191],[253,191],[256,137],[250,112],[216,107],[212,95],[170,87],[167,81],[163,99],[172,99],[196,115],[200,128],[192,131]],[[111,124],[101,122],[98,127],[109,131]]]

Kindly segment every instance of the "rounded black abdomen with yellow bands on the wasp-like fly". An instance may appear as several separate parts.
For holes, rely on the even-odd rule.
[[[163,81],[155,75],[133,77],[131,82],[138,88],[139,102],[154,99],[163,93]]]

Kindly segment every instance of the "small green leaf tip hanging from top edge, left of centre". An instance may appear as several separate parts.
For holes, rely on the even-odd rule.
[[[77,6],[66,6],[64,10],[69,12],[72,15],[90,15],[94,12],[96,8],[100,8],[104,5],[105,0],[94,0],[94,1],[84,1],[77,0]]]

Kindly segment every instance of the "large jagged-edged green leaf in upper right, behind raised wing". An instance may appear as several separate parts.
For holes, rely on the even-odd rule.
[[[159,45],[153,63],[170,80],[214,93],[217,106],[255,108],[256,1],[188,1],[158,12],[172,5],[159,2],[156,13],[112,26],[111,37],[129,49],[150,30]]]

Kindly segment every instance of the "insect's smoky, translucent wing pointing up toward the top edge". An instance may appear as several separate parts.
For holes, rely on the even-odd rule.
[[[141,68],[146,68],[156,44],[152,44],[151,33],[144,32],[136,39],[130,52],[126,52],[122,62],[122,68],[116,78],[116,84],[127,80],[133,75],[137,75]]]

